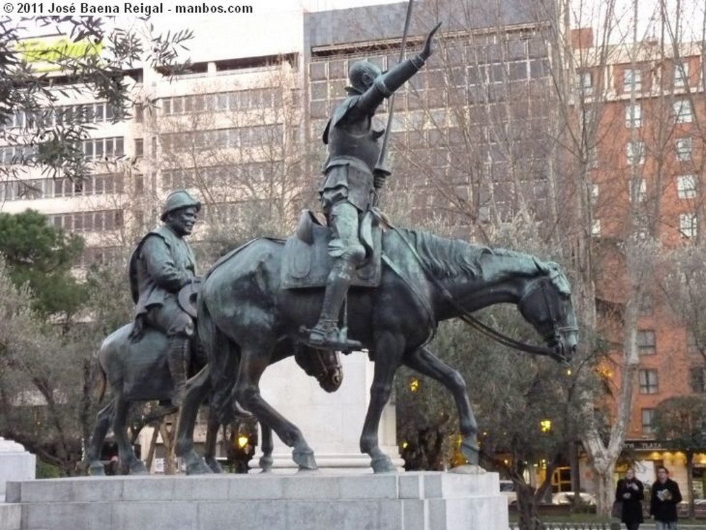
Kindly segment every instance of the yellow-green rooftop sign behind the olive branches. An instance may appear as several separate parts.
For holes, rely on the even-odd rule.
[[[88,39],[74,42],[69,37],[38,37],[18,42],[16,50],[23,61],[36,72],[60,71],[66,59],[84,59],[100,56],[102,44],[94,44]]]

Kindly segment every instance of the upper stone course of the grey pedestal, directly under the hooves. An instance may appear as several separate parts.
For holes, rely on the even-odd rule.
[[[322,475],[304,473],[198,476],[111,476],[9,482],[7,502],[92,502],[265,499],[430,499],[492,495],[495,474],[402,473]]]

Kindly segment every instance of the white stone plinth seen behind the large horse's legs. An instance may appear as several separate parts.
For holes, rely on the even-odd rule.
[[[260,382],[263,397],[301,429],[321,468],[369,468],[370,457],[360,452],[360,435],[370,402],[374,365],[366,354],[341,356],[343,383],[328,394],[316,379],[306,375],[294,358],[270,366]],[[381,449],[402,466],[397,449],[395,406],[388,404],[378,429]],[[275,439],[275,471],[295,469],[292,449]],[[257,466],[258,455],[251,462]]]

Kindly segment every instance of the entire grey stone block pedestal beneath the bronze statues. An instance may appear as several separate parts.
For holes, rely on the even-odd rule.
[[[116,476],[8,483],[20,530],[507,530],[498,475]]]

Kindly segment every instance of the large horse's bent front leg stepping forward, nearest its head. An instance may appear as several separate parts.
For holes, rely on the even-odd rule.
[[[458,371],[445,364],[426,348],[410,351],[402,358],[402,363],[422,375],[436,379],[453,395],[458,409],[458,420],[463,440],[461,454],[469,464],[478,464],[478,425],[471,410],[466,391],[466,382]]]

